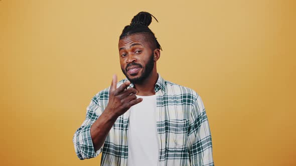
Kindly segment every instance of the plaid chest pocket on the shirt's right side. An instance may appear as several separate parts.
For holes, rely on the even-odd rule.
[[[189,120],[170,119],[167,120],[167,147],[184,148],[186,147]],[[181,150],[181,149],[180,149]]]

